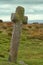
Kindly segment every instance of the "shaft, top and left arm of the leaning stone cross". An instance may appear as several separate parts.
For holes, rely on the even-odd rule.
[[[22,28],[22,19],[24,17],[23,13],[24,13],[24,8],[19,7],[18,9],[17,7],[16,13],[12,13],[11,15],[11,21],[15,22],[13,27],[13,32],[12,32],[12,39],[11,39],[11,46],[10,46],[10,53],[9,53],[9,61],[12,62],[17,61],[18,47],[19,47],[20,34]]]

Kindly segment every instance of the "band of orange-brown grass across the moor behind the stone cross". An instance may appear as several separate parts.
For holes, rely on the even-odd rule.
[[[13,22],[2,22],[0,23],[0,30],[13,27],[13,24]],[[23,24],[22,29],[27,30],[29,37],[43,38],[43,24]]]

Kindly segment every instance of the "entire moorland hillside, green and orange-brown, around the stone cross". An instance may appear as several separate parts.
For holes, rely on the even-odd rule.
[[[0,65],[43,65],[43,24],[22,25],[17,63],[8,62],[13,23],[0,23]]]

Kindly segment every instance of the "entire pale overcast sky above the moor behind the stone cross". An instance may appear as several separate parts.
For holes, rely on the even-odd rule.
[[[43,20],[43,0],[0,0],[0,19],[10,21],[17,6],[25,8],[28,20]]]

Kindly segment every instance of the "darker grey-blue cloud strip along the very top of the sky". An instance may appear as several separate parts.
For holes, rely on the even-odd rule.
[[[43,0],[1,0],[0,4],[43,4]]]

